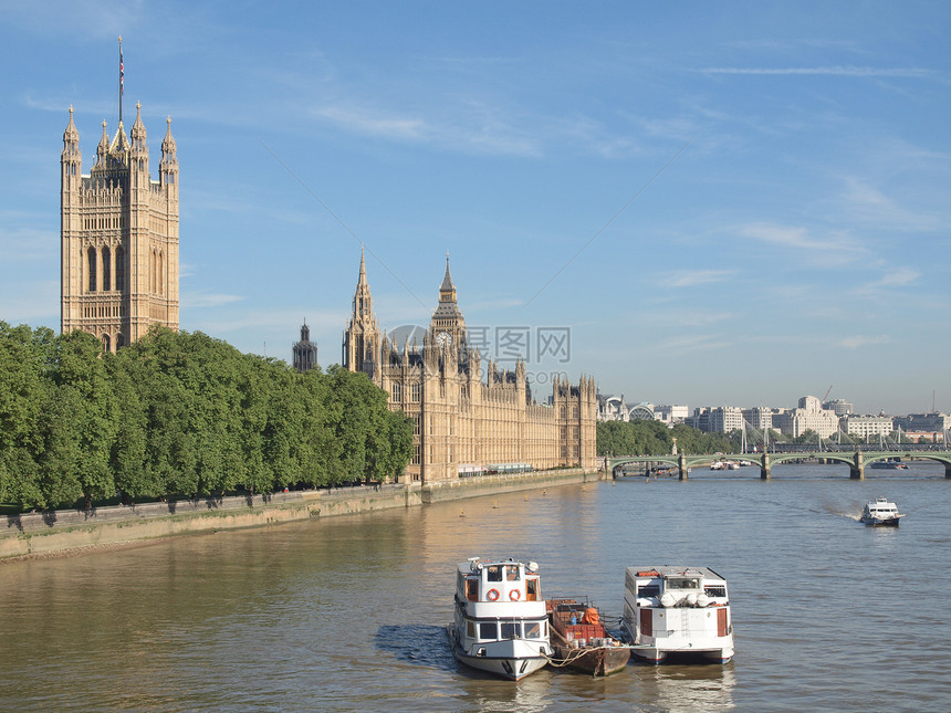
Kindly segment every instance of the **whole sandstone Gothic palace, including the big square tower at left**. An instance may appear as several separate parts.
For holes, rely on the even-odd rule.
[[[62,332],[82,329],[115,352],[144,336],[151,324],[177,329],[178,159],[171,119],[161,141],[158,180],[149,175],[139,105],[130,137],[121,114],[112,139],[103,122],[87,175],[82,174],[70,107],[60,166]],[[310,352],[315,361],[316,346]],[[572,386],[555,379],[552,402],[545,406],[532,398],[524,361],[509,371],[489,360],[488,382],[482,382],[482,356],[467,343],[448,258],[422,345],[400,349],[377,326],[360,255],[343,365],[365,373],[387,392],[390,408],[412,420],[415,452],[400,480],[445,481],[513,464],[595,468],[594,380],[582,377]]]

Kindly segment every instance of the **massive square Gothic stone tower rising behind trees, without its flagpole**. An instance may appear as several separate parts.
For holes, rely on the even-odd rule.
[[[63,133],[61,166],[61,328],[94,334],[105,349],[142,337],[154,323],[178,328],[178,158],[167,119],[158,180],[136,105],[132,141],[106,123],[96,162],[82,174],[80,134]]]

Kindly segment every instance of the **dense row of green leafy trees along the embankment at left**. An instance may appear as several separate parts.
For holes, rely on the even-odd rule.
[[[297,374],[200,332],[104,354],[83,332],[0,322],[0,502],[384,481],[411,454],[411,421],[363,374]]]

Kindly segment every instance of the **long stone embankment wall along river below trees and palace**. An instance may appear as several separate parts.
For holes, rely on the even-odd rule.
[[[598,473],[562,469],[482,475],[445,483],[397,483],[291,491],[263,495],[179,500],[138,505],[8,515],[0,520],[0,562],[79,554],[160,537],[260,527],[466,500],[597,480]]]

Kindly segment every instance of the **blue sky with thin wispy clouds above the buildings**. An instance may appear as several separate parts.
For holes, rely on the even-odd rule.
[[[142,103],[180,327],[428,325],[630,403],[951,411],[951,3],[0,0],[0,319],[60,326],[59,161]]]

